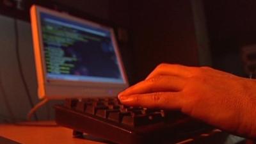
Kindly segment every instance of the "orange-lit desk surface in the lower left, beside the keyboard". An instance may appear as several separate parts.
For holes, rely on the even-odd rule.
[[[24,144],[102,144],[97,141],[72,138],[71,129],[57,126],[54,122],[23,122],[19,124],[1,124],[0,136]]]

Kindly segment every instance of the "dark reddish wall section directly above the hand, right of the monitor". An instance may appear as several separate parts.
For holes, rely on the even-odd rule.
[[[136,79],[163,62],[199,65],[190,1],[132,1],[130,6]]]

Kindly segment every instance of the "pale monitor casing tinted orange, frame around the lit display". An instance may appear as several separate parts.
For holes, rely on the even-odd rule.
[[[116,95],[129,86],[125,74],[124,65],[118,51],[115,33],[112,28],[102,26],[89,20],[79,19],[67,13],[55,12],[47,8],[33,5],[31,7],[31,28],[33,35],[33,47],[36,63],[36,75],[38,81],[38,97],[44,99],[86,98],[86,97],[116,97]],[[105,29],[111,33],[111,40],[115,49],[118,67],[122,74],[124,83],[92,82],[92,81],[67,81],[61,79],[47,79],[45,65],[44,44],[42,39],[42,28],[40,24],[40,13],[47,13],[61,19],[72,20],[80,24],[86,24],[95,28]]]

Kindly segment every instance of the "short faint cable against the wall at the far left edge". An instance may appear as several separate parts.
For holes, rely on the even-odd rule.
[[[4,104],[6,106],[6,109],[10,115],[10,119],[11,119],[11,122],[15,122],[15,116],[13,115],[13,111],[12,111],[12,108],[10,106],[10,103],[8,101],[8,98],[7,98],[7,95],[6,95],[6,92],[4,90],[4,86],[2,84],[2,81],[1,81],[1,77],[2,77],[2,72],[0,71],[0,90],[1,90],[1,93],[3,94],[3,98],[4,98]]]

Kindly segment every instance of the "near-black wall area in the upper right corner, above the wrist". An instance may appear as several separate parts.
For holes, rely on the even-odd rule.
[[[213,67],[246,76],[241,47],[256,44],[256,1],[204,1],[204,7]]]

